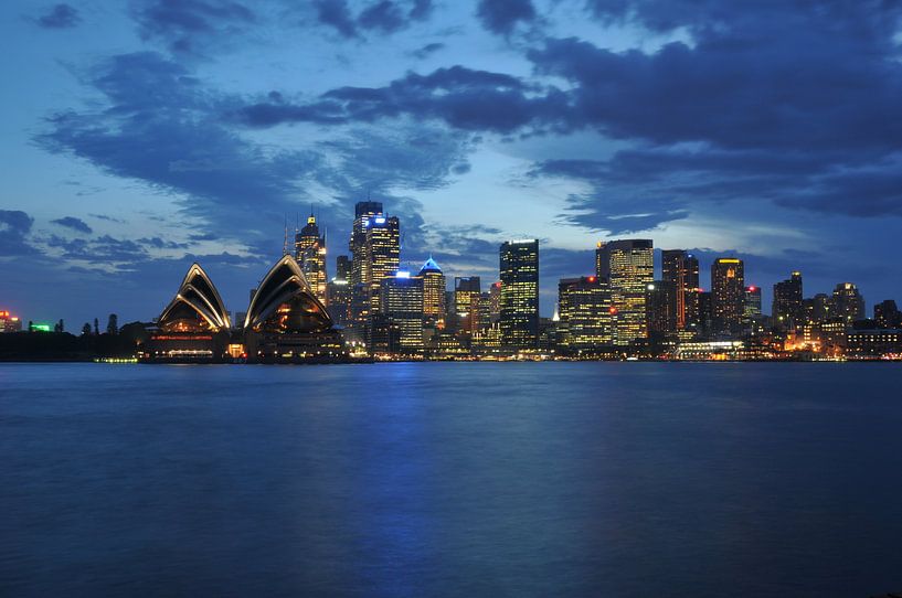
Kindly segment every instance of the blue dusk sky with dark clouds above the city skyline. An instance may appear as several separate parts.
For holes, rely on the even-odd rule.
[[[311,210],[542,314],[598,241],[745,260],[764,289],[902,300],[902,2],[132,0],[0,7],[0,309],[159,314],[193,261],[232,311]],[[660,268],[657,260],[658,271]]]

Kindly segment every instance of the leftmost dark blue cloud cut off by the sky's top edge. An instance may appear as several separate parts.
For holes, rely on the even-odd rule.
[[[132,13],[142,38],[185,54],[202,54],[212,43],[219,51],[256,21],[250,8],[229,0],[140,0]]]

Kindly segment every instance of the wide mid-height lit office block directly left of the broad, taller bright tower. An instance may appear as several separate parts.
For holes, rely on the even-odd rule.
[[[592,353],[614,341],[611,289],[597,276],[558,284],[558,344],[567,354]]]

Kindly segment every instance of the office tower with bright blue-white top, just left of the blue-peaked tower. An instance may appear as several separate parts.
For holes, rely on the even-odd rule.
[[[389,351],[423,351],[423,279],[401,270],[380,284],[380,318],[390,325]]]

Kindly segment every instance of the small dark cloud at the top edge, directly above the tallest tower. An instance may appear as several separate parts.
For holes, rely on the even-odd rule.
[[[354,15],[347,0],[316,0],[320,23],[335,29],[343,38],[358,38],[364,32],[394,33],[432,15],[432,0],[379,0],[367,4]]]

